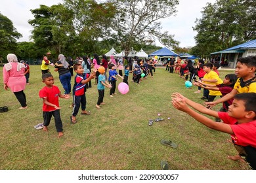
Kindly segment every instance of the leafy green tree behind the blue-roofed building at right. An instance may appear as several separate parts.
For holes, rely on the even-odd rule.
[[[196,20],[196,50],[207,55],[256,38],[256,1],[218,0],[207,3]],[[195,54],[195,53],[194,53]]]

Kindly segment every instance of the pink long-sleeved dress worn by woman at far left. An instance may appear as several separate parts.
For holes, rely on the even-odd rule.
[[[17,71],[18,63],[12,62],[12,69],[6,71],[3,67],[3,83],[7,84],[12,92],[20,92],[26,88],[26,77],[24,76],[25,68]]]

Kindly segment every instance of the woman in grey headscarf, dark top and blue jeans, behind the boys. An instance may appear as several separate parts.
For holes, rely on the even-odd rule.
[[[66,61],[66,58],[64,55],[59,54],[58,55],[58,61],[55,63],[54,71],[58,71],[58,76],[60,78],[60,82],[64,88],[64,94],[68,95],[71,92],[71,73],[70,73],[70,68],[69,64]]]

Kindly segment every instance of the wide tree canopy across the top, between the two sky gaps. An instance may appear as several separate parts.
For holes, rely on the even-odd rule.
[[[138,44],[152,44],[155,38],[166,46],[178,46],[174,35],[160,31],[160,20],[175,15],[178,3],[64,0],[63,4],[31,10],[34,19],[29,23],[35,46],[54,54],[93,54],[113,46],[128,51]]]

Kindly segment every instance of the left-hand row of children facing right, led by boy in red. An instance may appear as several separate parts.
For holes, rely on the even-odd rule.
[[[86,59],[86,58],[85,58]],[[81,114],[90,115],[91,112],[86,109],[86,96],[85,92],[87,90],[87,83],[91,81],[91,79],[96,78],[97,81],[97,89],[98,89],[98,101],[96,103],[96,108],[100,108],[100,105],[104,105],[104,89],[105,87],[110,88],[110,97],[113,97],[113,94],[116,94],[116,81],[117,76],[123,79],[123,82],[128,84],[128,76],[129,73],[133,73],[133,81],[139,84],[143,72],[146,72],[146,75],[151,71],[152,60],[148,60],[147,63],[144,63],[141,59],[139,59],[134,64],[134,69],[129,71],[128,65],[125,65],[125,76],[119,75],[116,71],[116,65],[114,61],[109,62],[109,76],[108,82],[106,80],[106,69],[102,65],[102,63],[98,63],[96,61],[97,56],[95,55],[95,61],[93,61],[92,72],[85,73],[84,67],[87,66],[86,63],[75,63],[72,65],[76,75],[74,77],[74,87],[72,91],[73,97],[73,111],[72,116],[70,116],[70,122],[72,124],[77,123],[76,116],[79,112],[79,108],[81,107]],[[149,64],[148,64],[149,63]],[[96,66],[98,65],[98,67]],[[149,69],[149,68],[150,69]],[[91,69],[89,69],[91,71]],[[152,72],[152,71],[151,71]],[[146,76],[145,76],[146,77]],[[62,95],[57,86],[54,86],[54,78],[51,73],[45,73],[42,75],[43,82],[45,83],[45,87],[39,91],[39,97],[43,99],[43,131],[48,131],[48,125],[50,124],[51,117],[54,116],[56,131],[58,132],[58,137],[62,137],[63,129],[62,129],[62,121],[60,118],[60,106],[58,103],[58,97],[69,99],[70,95],[65,94]]]

